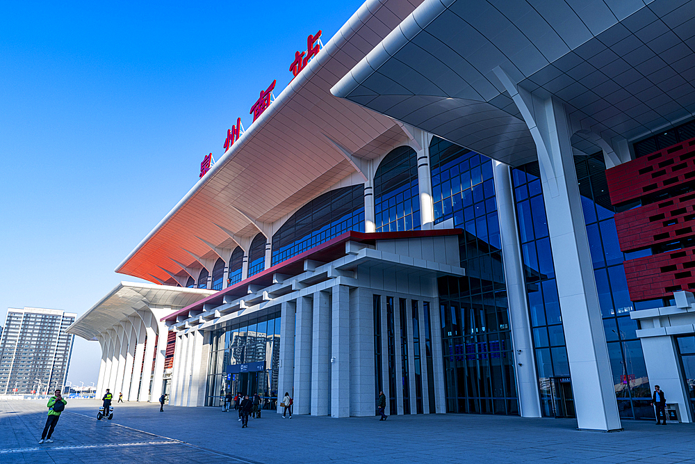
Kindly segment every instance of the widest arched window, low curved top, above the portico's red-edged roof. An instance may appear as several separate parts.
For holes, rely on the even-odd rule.
[[[348,230],[364,232],[364,185],[320,195],[297,210],[272,236],[271,266]]]

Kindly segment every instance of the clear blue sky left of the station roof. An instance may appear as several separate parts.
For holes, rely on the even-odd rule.
[[[361,3],[1,3],[0,323],[138,281],[113,269]],[[100,351],[76,337],[68,380],[96,383]]]

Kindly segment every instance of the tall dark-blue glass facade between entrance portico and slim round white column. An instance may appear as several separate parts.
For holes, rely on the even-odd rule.
[[[446,410],[518,414],[492,161],[434,137],[430,167],[434,222],[465,230],[466,277],[439,278]]]

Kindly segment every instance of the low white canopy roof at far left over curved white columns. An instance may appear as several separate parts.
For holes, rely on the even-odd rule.
[[[206,289],[120,282],[66,331],[91,340],[127,317],[137,315],[139,310],[147,310],[149,307],[179,310],[215,293],[214,290]]]

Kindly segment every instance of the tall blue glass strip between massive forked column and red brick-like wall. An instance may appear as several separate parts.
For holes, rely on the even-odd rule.
[[[637,321],[630,319],[635,305],[623,268],[626,256],[620,250],[613,219],[621,210],[610,202],[603,153],[575,157],[575,166],[618,410],[628,419],[653,418],[644,355],[635,334]]]

